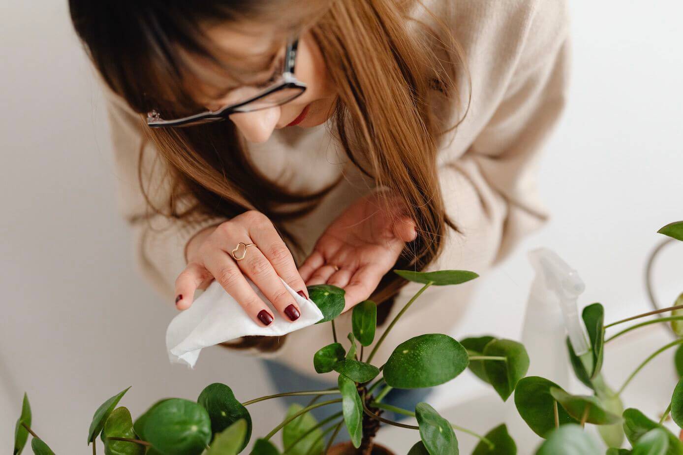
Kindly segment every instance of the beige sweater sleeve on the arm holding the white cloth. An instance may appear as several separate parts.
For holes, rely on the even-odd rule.
[[[146,137],[139,114],[104,83],[101,85],[112,139],[117,208],[133,230],[135,264],[143,279],[163,298],[172,301],[176,278],[186,266],[186,244],[197,232],[227,219],[179,220],[149,208],[141,184],[154,206],[167,207],[171,197],[167,167]],[[178,201],[178,207],[183,210],[193,202],[187,197]]]

